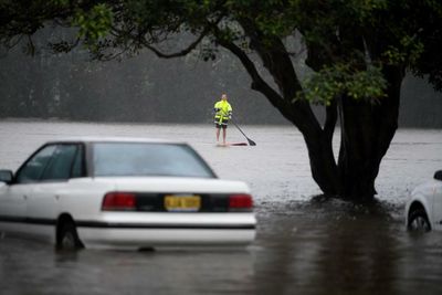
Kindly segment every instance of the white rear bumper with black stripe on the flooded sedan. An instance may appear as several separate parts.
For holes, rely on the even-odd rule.
[[[86,247],[239,246],[255,239],[253,213],[141,214],[106,213],[99,221],[77,222]]]

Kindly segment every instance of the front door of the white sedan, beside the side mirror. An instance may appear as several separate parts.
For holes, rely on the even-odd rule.
[[[17,171],[14,181],[0,188],[0,229],[11,233],[29,233],[27,201],[39,183],[55,146],[43,146]]]

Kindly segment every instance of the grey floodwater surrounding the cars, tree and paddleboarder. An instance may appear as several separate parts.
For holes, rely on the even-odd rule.
[[[241,128],[257,146],[215,147],[210,125],[0,122],[0,168],[8,169],[66,136],[189,141],[219,177],[251,186],[259,220],[256,241],[243,250],[60,253],[6,236],[0,293],[442,294],[442,233],[414,235],[403,225],[410,190],[442,169],[441,130],[399,130],[381,165],[378,201],[362,207],[313,197],[320,191],[295,128]],[[228,138],[245,141],[233,126]]]

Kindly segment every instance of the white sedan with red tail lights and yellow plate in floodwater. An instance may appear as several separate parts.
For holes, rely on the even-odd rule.
[[[185,143],[57,140],[0,171],[0,232],[59,249],[246,245],[255,225],[249,187]]]

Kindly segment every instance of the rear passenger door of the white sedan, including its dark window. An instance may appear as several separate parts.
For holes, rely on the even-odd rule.
[[[77,160],[75,160],[77,159]],[[60,144],[43,171],[38,186],[27,199],[27,215],[34,233],[41,238],[54,238],[60,215],[60,196],[70,190],[70,179],[82,175],[82,149],[78,144]]]

